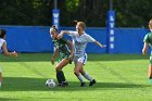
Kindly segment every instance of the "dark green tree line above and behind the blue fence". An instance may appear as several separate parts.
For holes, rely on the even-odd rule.
[[[148,27],[152,0],[113,0],[116,27]],[[50,26],[54,0],[0,0],[0,25]],[[58,0],[60,25],[84,21],[89,27],[105,27],[110,0]]]

